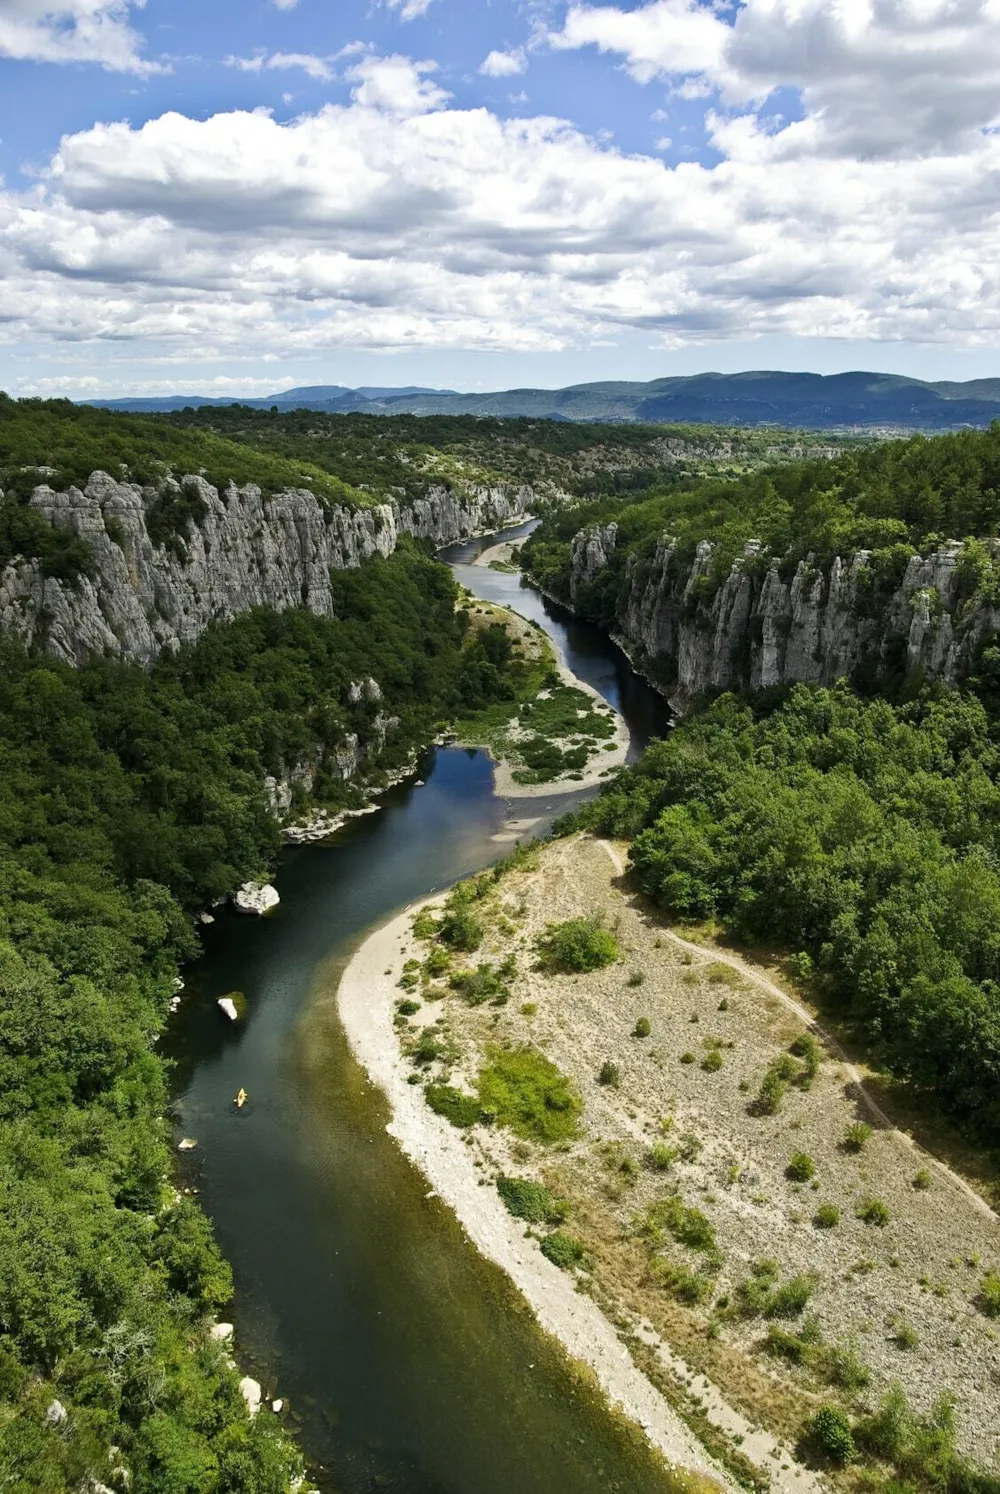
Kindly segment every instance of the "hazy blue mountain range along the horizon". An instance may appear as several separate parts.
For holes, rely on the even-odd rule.
[[[889,374],[695,374],[647,384],[607,381],[568,388],[510,388],[460,394],[447,388],[345,388],[317,384],[265,399],[94,399],[103,409],[172,411],[203,405],[315,409],[371,415],[529,415],[605,420],[785,426],[807,430],[954,430],[1000,420],[1000,378],[925,384]]]

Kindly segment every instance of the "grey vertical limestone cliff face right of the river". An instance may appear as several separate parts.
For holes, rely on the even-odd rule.
[[[614,524],[574,538],[574,602],[614,547]],[[1000,629],[997,608],[964,595],[961,548],[943,544],[886,577],[864,550],[824,566],[813,556],[785,566],[750,542],[719,584],[709,541],[692,563],[680,563],[664,535],[652,559],[626,560],[616,636],[658,680],[671,683],[682,708],[701,690],[831,684],[842,677],[951,684]]]

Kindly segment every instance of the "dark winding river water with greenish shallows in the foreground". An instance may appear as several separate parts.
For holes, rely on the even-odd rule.
[[[471,566],[528,527],[442,557],[480,596],[538,620],[641,747],[667,707],[623,654],[517,575]],[[333,841],[288,850],[277,916],[218,917],[164,1038],[179,1132],[199,1143],[185,1182],[235,1271],[241,1363],[286,1397],[329,1494],[659,1494],[640,1439],[426,1197],[347,1052],[335,991],[365,932],[495,861],[508,819],[572,802],[498,799],[481,751],[430,751],[419,780]],[[247,995],[239,1025],[215,1007],[229,991]],[[241,1086],[250,1104],[236,1113]]]

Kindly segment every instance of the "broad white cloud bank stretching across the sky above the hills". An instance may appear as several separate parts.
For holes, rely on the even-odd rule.
[[[717,108],[719,163],[670,166],[567,121],[457,109],[428,61],[357,57],[350,82],[348,103],[290,123],[164,114],[63,139],[30,191],[0,191],[0,339],[209,366],[628,329],[662,345],[1000,335],[997,134],[831,170],[816,121]]]

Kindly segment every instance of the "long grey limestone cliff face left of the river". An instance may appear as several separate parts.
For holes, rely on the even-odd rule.
[[[215,620],[253,607],[308,607],[333,614],[330,574],[389,556],[399,535],[448,544],[499,529],[531,509],[528,487],[430,489],[407,506],[324,506],[299,490],[265,498],[253,484],[221,493],[200,477],[166,484],[203,517],[173,548],[154,544],[149,489],[94,472],[81,492],[39,487],[31,496],[49,523],[93,550],[96,574],[72,586],[42,575],[37,562],[0,571],[0,626],[70,663],[111,654],[151,663],[193,642]],[[161,495],[160,495],[161,496]]]

